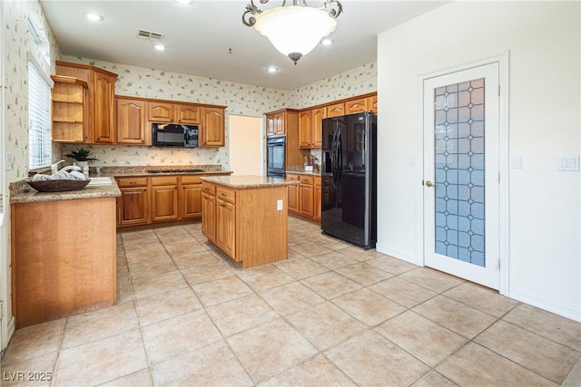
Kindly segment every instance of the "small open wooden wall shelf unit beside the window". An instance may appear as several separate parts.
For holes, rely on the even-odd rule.
[[[52,75],[54,87],[53,128],[54,142],[84,142],[89,139],[89,84],[84,80]]]

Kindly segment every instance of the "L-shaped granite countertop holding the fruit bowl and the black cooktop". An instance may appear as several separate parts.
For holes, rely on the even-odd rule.
[[[192,171],[192,169],[200,169]],[[91,169],[92,171],[94,168]],[[28,203],[36,201],[74,200],[85,198],[117,198],[121,191],[114,178],[123,176],[167,176],[167,175],[213,175],[232,173],[222,170],[221,165],[178,165],[178,166],[139,166],[139,167],[102,167],[103,172],[91,173],[89,179],[110,177],[112,184],[86,186],[84,189],[60,192],[39,192],[27,184],[30,179],[10,183],[10,203]],[[152,172],[154,171],[154,172]]]

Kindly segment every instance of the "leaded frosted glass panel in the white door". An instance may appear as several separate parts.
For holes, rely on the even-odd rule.
[[[484,266],[484,79],[435,91],[436,253]]]

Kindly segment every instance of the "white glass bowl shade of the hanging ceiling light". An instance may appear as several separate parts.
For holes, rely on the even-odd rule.
[[[300,57],[310,53],[336,25],[326,11],[308,6],[280,6],[258,15],[254,28],[297,64]]]

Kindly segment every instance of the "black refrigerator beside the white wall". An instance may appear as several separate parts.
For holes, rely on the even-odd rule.
[[[377,241],[377,116],[322,123],[321,221],[324,234],[363,248]]]

